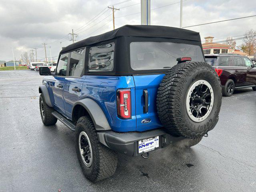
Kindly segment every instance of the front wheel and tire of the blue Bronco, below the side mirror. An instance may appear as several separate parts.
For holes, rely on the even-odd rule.
[[[45,100],[44,95],[41,93],[39,97],[39,108],[40,108],[40,114],[41,119],[44,125],[54,125],[57,122],[57,118],[52,115],[52,112],[54,112],[54,108],[49,107]]]

